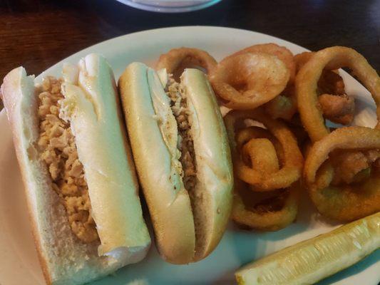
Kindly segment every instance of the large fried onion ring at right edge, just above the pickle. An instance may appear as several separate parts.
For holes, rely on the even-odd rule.
[[[304,180],[318,211],[339,222],[349,222],[380,210],[380,176],[374,171],[359,183],[332,185],[335,150],[379,150],[380,130],[346,127],[314,143],[304,165]],[[376,151],[377,152],[377,151]]]

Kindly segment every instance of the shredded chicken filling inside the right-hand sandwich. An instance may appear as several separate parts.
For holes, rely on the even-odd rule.
[[[182,92],[181,92],[182,91]],[[189,110],[185,92],[179,83],[170,79],[167,94],[170,106],[178,125],[178,149],[181,152],[180,162],[183,168],[183,185],[186,190],[194,189],[197,181],[197,167],[195,163],[194,143],[190,134]]]

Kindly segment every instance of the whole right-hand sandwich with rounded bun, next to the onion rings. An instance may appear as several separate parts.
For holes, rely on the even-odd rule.
[[[163,259],[187,264],[220,242],[232,206],[225,126],[205,75],[176,83],[143,63],[119,79],[128,135]]]

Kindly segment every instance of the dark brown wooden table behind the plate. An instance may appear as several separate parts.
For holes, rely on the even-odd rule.
[[[379,0],[223,0],[185,14],[140,11],[113,0],[0,0],[0,80],[21,64],[39,74],[108,38],[186,25],[245,28],[312,50],[350,46],[380,69]]]

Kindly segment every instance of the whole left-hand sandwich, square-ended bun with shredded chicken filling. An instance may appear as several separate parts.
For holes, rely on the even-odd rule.
[[[96,54],[35,87],[1,86],[48,284],[84,284],[145,257],[150,237],[120,121],[115,80]]]

